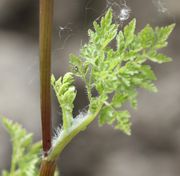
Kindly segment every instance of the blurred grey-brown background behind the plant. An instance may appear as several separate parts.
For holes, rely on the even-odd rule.
[[[117,5],[118,3],[118,5]],[[35,140],[41,139],[38,1],[0,1],[0,113],[18,121]],[[121,26],[137,18],[137,28],[176,23],[163,52],[172,63],[152,65],[159,92],[140,91],[138,110],[132,112],[133,132],[128,137],[95,121],[64,151],[62,176],[179,176],[180,175],[180,4],[179,0],[55,0],[52,71],[69,70],[69,53],[78,53],[87,41],[87,29],[108,6],[118,15],[129,13]],[[75,113],[86,106],[86,92],[78,85]],[[54,128],[61,112],[52,92]],[[0,171],[10,166],[9,136],[0,124]]]

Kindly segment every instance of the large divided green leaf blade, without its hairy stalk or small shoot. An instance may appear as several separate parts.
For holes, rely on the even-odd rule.
[[[90,105],[92,89],[106,97],[99,112],[100,125],[114,124],[115,128],[130,134],[130,115],[120,108],[127,101],[133,108],[137,107],[138,88],[157,92],[153,83],[156,76],[146,61],[171,61],[158,49],[167,45],[175,25],[155,29],[147,25],[135,34],[136,20],[133,19],[123,31],[118,31],[111,9],[100,24],[94,22],[93,25],[94,30],[88,31],[89,42],[82,47],[80,55],[70,56],[72,71],[84,80]],[[116,42],[115,49],[111,48],[112,41]]]

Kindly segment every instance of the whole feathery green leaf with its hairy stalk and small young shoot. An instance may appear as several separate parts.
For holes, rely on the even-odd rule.
[[[167,46],[174,24],[155,29],[146,25],[136,33],[136,20],[133,19],[119,30],[109,9],[100,23],[95,21],[93,26],[94,29],[88,31],[89,42],[81,48],[79,56],[70,55],[72,73],[57,81],[52,76],[52,85],[63,112],[63,128],[55,137],[48,160],[56,159],[71,139],[96,116],[100,125],[109,124],[130,135],[130,113],[123,109],[123,104],[130,102],[133,108],[137,108],[138,88],[157,92],[156,75],[147,61],[160,64],[171,61],[158,50]],[[111,47],[113,42],[115,48]],[[89,109],[83,118],[79,118],[81,115],[72,117],[76,96],[73,76],[81,78],[87,89]],[[98,96],[92,95],[94,90]]]

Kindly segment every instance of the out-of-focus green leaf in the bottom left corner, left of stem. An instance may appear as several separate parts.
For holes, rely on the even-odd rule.
[[[41,143],[32,143],[32,133],[6,118],[2,122],[12,141],[12,162],[10,171],[3,171],[2,176],[37,176],[40,162]]]

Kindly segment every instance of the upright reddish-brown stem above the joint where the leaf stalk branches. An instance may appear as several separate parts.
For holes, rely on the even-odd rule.
[[[47,156],[51,148],[51,38],[53,0],[40,0],[40,79],[41,79],[41,123],[43,151]]]

